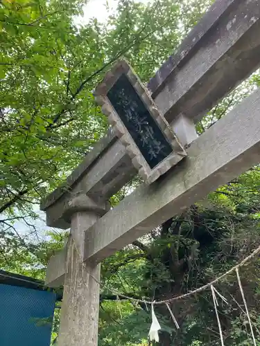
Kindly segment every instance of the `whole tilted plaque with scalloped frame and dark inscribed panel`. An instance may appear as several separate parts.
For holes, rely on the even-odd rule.
[[[94,96],[146,183],[153,183],[187,156],[126,60],[119,60],[106,73]]]

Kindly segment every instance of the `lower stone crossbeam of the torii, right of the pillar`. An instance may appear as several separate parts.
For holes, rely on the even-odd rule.
[[[260,89],[216,122],[188,156],[142,185],[85,233],[84,260],[100,262],[260,162]]]

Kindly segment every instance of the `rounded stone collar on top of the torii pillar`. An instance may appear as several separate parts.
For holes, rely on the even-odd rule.
[[[108,202],[97,204],[86,194],[78,193],[66,203],[62,217],[70,223],[72,215],[76,212],[93,212],[102,217],[108,210],[110,210],[110,204]]]

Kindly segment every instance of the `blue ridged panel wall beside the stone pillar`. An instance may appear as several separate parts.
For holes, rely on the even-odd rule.
[[[49,346],[55,293],[0,284],[0,346]]]

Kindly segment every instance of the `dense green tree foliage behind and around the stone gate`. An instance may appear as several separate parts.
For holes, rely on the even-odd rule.
[[[158,0],[144,6],[121,0],[107,24],[92,19],[79,27],[75,16],[82,14],[84,2],[1,1],[1,268],[43,278],[48,258],[62,248],[66,233],[53,230],[42,237],[35,206],[105,133],[107,123],[92,91],[112,62],[124,55],[147,82],[210,3]],[[259,82],[255,73],[228,95],[197,124],[198,134]],[[103,262],[101,346],[147,345],[150,327],[145,304],[119,301],[110,289],[137,299],[169,298],[209,282],[259,245],[259,186],[260,168],[252,167]],[[132,188],[125,186],[112,204]],[[17,221],[26,225],[26,233]],[[257,336],[259,269],[256,260],[242,271]],[[230,302],[219,307],[226,345],[251,345],[235,277],[218,289]],[[181,329],[176,331],[165,306],[156,308],[163,327],[160,345],[219,345],[208,291],[171,308]]]

